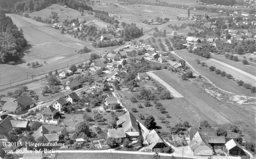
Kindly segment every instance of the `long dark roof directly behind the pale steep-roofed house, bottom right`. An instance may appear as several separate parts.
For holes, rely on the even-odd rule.
[[[197,127],[193,127],[193,128],[188,128],[190,141],[193,139],[193,137],[197,132],[199,132],[201,136],[217,136],[217,132],[215,131],[214,128],[198,129]]]

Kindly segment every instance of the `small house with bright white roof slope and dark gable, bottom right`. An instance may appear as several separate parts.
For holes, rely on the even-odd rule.
[[[225,144],[224,151],[228,156],[246,156],[243,147],[239,145],[234,139],[229,140]]]

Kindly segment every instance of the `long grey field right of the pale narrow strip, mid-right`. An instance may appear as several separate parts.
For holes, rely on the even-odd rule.
[[[201,119],[201,116],[205,115],[208,119],[211,119],[213,124],[250,122],[251,125],[255,125],[252,120],[255,118],[255,111],[253,111],[255,109],[248,114],[247,111],[244,111],[243,108],[236,107],[236,105],[224,104],[190,81],[181,80],[177,74],[170,73],[167,70],[155,71],[154,73],[185,97],[185,101],[183,101],[182,98],[175,98],[177,103],[182,105],[182,107],[186,107],[185,109],[180,108],[180,111],[187,111],[189,108],[196,108],[197,111],[190,112],[191,118],[196,116],[198,119]],[[182,101],[179,101],[180,99]],[[252,105],[247,105],[247,107],[248,106],[252,107]],[[236,110],[234,110],[235,107]],[[237,108],[239,111],[237,111]]]

